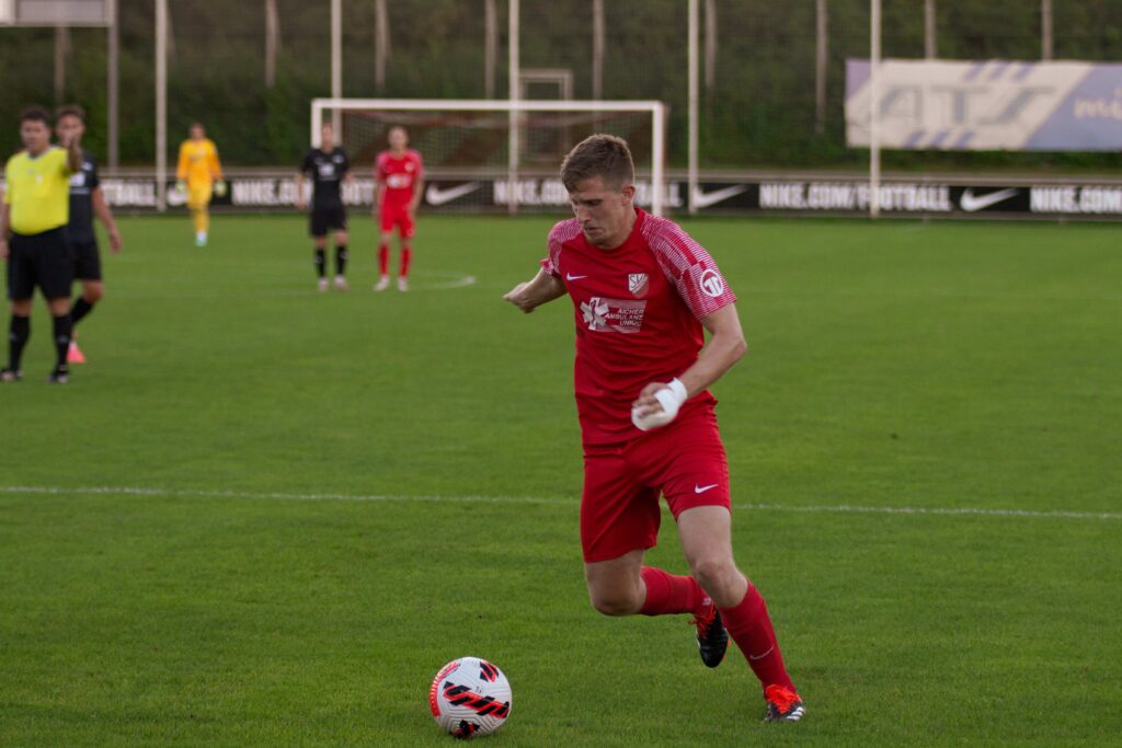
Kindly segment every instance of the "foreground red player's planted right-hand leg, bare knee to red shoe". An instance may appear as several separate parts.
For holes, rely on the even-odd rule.
[[[767,604],[733,558],[728,508],[686,509],[678,515],[678,530],[693,576],[717,603],[729,636],[760,678],[767,701],[767,719],[801,719],[806,709],[783,664]]]

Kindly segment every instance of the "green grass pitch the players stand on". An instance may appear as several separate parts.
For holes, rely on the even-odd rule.
[[[808,704],[765,726],[739,653],[588,604],[571,307],[500,299],[552,219],[422,216],[408,294],[355,223],[319,294],[301,218],[205,249],[122,220],[67,387],[36,302],[0,387],[0,745],[448,745],[460,655],[514,687],[487,745],[1122,740],[1116,227],[686,223],[741,299],[736,553]]]

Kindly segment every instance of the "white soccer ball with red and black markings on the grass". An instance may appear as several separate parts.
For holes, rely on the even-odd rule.
[[[460,657],[440,668],[429,689],[436,723],[460,739],[490,735],[511,715],[511,682],[479,657]]]

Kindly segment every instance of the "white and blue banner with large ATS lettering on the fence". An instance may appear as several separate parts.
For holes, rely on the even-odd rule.
[[[846,140],[870,146],[867,59],[846,63]],[[1122,64],[885,59],[882,148],[1122,150]]]

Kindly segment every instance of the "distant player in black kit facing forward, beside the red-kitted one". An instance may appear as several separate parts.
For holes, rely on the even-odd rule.
[[[335,288],[347,290],[347,209],[340,191],[343,179],[350,179],[350,164],[342,148],[335,147],[335,133],[330,122],[320,130],[320,147],[304,156],[296,177],[296,206],[307,209],[304,197],[304,175],[312,177],[311,233],[315,241],[315,270],[320,290],[328,289],[328,230],[335,232]]]

